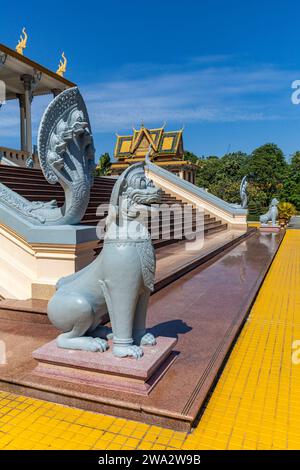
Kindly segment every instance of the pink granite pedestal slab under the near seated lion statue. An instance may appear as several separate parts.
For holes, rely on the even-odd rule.
[[[148,395],[176,359],[175,338],[157,338],[156,346],[145,346],[141,359],[118,358],[112,344],[104,353],[62,349],[51,341],[33,352],[38,361],[31,381],[39,377],[74,382],[111,390]]]

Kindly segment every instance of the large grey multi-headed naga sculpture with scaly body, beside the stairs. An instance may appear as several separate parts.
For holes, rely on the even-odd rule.
[[[0,183],[5,206],[35,225],[74,225],[81,221],[93,184],[94,144],[87,109],[77,87],[58,95],[47,107],[38,133],[38,156],[46,180],[64,189],[64,205],[31,202]]]

